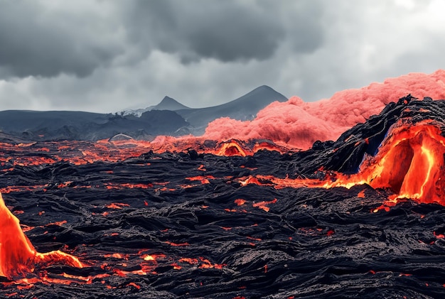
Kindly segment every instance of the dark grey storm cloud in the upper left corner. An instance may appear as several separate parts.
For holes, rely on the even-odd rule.
[[[91,33],[97,24],[89,17],[50,11],[39,1],[0,1],[1,77],[84,77],[107,64],[120,49]]]

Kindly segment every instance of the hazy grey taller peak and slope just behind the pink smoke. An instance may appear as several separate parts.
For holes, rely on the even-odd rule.
[[[220,117],[227,116],[242,121],[254,119],[259,110],[275,101],[286,102],[287,98],[272,87],[262,85],[225,104],[198,109],[181,109],[176,112],[194,127],[193,133],[198,135],[204,133],[210,121]]]

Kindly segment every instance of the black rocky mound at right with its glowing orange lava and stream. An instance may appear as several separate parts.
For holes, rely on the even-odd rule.
[[[324,172],[322,180],[270,175],[256,178],[272,182],[276,188],[368,184],[391,192],[390,205],[402,198],[445,205],[443,104],[402,98],[388,105],[380,116],[345,132],[332,146],[313,150],[309,158],[301,155],[306,163],[317,161],[314,165]],[[323,160],[317,160],[319,156]]]

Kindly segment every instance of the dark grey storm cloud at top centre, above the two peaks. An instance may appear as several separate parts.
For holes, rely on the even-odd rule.
[[[266,60],[285,38],[297,53],[318,48],[323,41],[318,1],[284,2],[299,6],[289,18],[284,3],[275,1],[140,0],[133,2],[127,22],[134,43],[178,53],[183,62]]]

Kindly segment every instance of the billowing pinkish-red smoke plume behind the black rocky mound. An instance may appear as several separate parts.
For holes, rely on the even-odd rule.
[[[269,104],[252,121],[216,119],[208,125],[203,138],[218,141],[265,138],[307,149],[316,140],[336,140],[346,129],[379,114],[386,104],[407,94],[419,99],[445,99],[445,70],[390,78],[368,87],[336,92],[331,99],[318,102],[306,103],[299,97],[291,97],[287,102]]]

